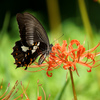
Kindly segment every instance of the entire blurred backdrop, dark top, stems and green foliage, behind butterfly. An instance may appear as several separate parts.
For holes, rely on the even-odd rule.
[[[25,87],[30,81],[26,92],[30,100],[36,100],[39,79],[46,96],[51,94],[50,100],[72,100],[73,92],[69,73],[68,84],[61,99],[58,99],[66,82],[67,71],[63,68],[53,70],[52,77],[47,77],[46,71],[29,73],[20,68],[15,69],[16,65],[11,53],[15,42],[20,39],[16,14],[23,12],[31,13],[41,22],[51,43],[64,34],[58,39],[60,44],[62,40],[67,40],[68,43],[72,39],[77,39],[80,43],[85,40],[85,47],[88,50],[100,41],[100,3],[94,0],[0,1],[0,81],[3,79],[0,95],[4,93],[8,83],[11,84],[9,92],[16,80],[22,81]],[[96,52],[99,51],[100,49]],[[100,66],[93,68],[90,73],[84,66],[77,65],[77,68],[80,77],[76,72],[73,72],[73,76],[78,100],[100,100]],[[14,98],[22,93],[20,84],[18,88],[19,91]],[[40,95],[44,100],[41,89]]]

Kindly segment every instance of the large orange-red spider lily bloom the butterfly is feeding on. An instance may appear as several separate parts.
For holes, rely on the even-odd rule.
[[[74,45],[76,45],[75,48]],[[46,70],[46,74],[48,77],[52,76],[52,73],[49,74],[48,71],[52,71],[55,68],[59,68],[61,64],[63,64],[63,68],[65,70],[71,68],[71,71],[76,70],[77,72],[76,64],[78,63],[80,65],[88,67],[88,72],[91,72],[91,69],[93,67],[96,67],[96,62],[99,61],[96,61],[95,57],[100,55],[100,52],[93,53],[93,51],[98,46],[100,46],[100,43],[98,43],[97,46],[95,46],[94,48],[86,51],[86,48],[81,45],[78,40],[72,40],[69,45],[67,45],[66,40],[64,40],[62,46],[57,43],[55,44],[55,46],[52,47],[52,53],[50,53],[49,60],[45,60],[46,63],[38,65],[38,63],[35,62],[35,65],[31,65],[29,67],[40,67],[41,69],[37,71]]]

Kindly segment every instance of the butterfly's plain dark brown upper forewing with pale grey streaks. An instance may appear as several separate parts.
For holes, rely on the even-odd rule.
[[[21,41],[26,46],[32,46],[34,42],[40,41],[49,44],[47,34],[40,22],[31,14],[17,14],[17,22]]]

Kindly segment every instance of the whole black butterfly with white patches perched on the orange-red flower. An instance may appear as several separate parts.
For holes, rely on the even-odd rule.
[[[12,55],[18,67],[31,65],[41,55],[38,64],[42,64],[51,52],[52,44],[49,43],[46,31],[40,22],[31,14],[17,14],[17,22],[21,40],[15,43]]]

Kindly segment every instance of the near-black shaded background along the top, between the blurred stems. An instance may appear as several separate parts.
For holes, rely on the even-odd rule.
[[[58,0],[59,9],[61,14],[61,20],[64,21],[70,17],[79,17],[80,11],[78,7],[77,0]],[[100,28],[100,4],[94,2],[93,0],[85,0],[87,12],[92,25],[99,30]],[[31,10],[35,12],[40,12],[45,17],[46,22],[48,22],[48,12],[46,6],[46,0],[1,0],[0,1],[0,29],[4,21],[5,13],[10,11],[12,18],[17,13],[21,13],[26,10]],[[82,25],[81,18],[76,21],[78,25]],[[10,24],[10,23],[9,23]],[[47,23],[47,26],[49,24]],[[49,26],[48,26],[49,27]],[[47,28],[48,28],[47,27]]]

